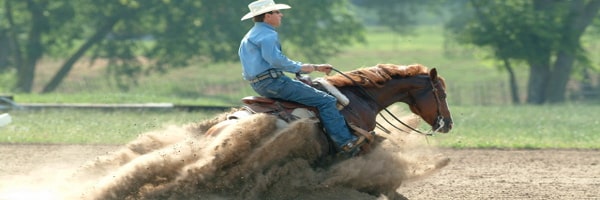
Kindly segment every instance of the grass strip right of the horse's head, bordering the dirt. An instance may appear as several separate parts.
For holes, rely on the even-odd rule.
[[[455,129],[434,137],[453,148],[600,149],[600,105],[457,106]]]

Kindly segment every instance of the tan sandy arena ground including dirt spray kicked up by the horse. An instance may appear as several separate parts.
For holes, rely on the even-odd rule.
[[[313,168],[311,123],[269,132],[276,121],[257,120],[270,119],[215,137],[170,127],[124,146],[3,144],[0,200],[600,199],[597,150],[437,149],[408,134]]]

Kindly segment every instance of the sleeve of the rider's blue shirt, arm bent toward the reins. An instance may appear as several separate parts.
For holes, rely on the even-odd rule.
[[[286,72],[300,72],[301,62],[289,59],[281,51],[278,35],[269,34],[261,45],[262,56],[273,67]]]

